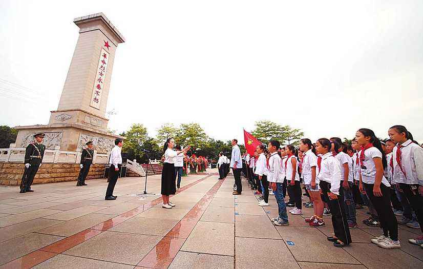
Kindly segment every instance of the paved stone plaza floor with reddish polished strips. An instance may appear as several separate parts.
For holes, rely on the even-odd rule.
[[[309,227],[289,214],[289,226],[275,227],[274,196],[260,208],[243,180],[244,192],[232,195],[234,178],[218,180],[216,170],[182,179],[161,208],[160,196],[135,196],[144,178],[119,179],[118,198],[104,200],[106,180],[37,184],[18,194],[0,187],[0,268],[423,268],[423,250],[407,239],[420,231],[400,226],[401,249],[370,243],[378,228],[351,230],[353,244],[335,248],[326,227]],[[160,193],[160,175],[149,177],[148,191]],[[294,245],[288,245],[292,241]]]

